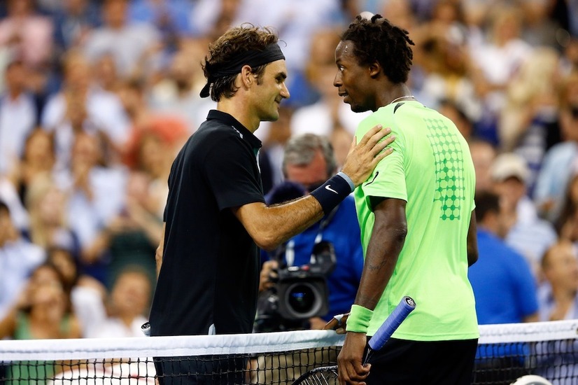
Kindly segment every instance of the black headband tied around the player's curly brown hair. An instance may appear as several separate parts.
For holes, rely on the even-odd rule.
[[[209,75],[209,78],[206,80],[206,85],[201,90],[201,97],[209,96],[211,84],[214,83],[216,78],[239,73],[245,65],[255,68],[281,59],[284,60],[285,56],[277,43],[267,45],[264,50],[248,50],[243,52],[237,60],[227,62],[222,66],[216,66],[216,68],[211,71],[211,75]]]

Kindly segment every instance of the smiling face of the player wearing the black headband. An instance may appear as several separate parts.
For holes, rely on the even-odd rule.
[[[255,109],[261,121],[279,119],[281,100],[290,97],[285,84],[287,67],[285,60],[276,60],[265,67],[260,83],[257,85]]]

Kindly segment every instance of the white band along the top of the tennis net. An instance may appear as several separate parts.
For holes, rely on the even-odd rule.
[[[578,320],[480,325],[479,330],[479,344],[576,339]],[[2,340],[0,361],[257,354],[342,346],[343,342],[344,335],[337,335],[332,330],[130,339]]]

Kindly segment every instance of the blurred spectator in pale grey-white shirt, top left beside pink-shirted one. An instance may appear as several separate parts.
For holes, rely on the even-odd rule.
[[[148,75],[150,55],[160,48],[160,32],[153,25],[130,22],[127,16],[127,0],[105,0],[102,6],[104,25],[87,36],[84,52],[91,62],[111,53],[123,78],[141,73]]]

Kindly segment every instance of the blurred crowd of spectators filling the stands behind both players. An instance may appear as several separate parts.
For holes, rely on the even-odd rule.
[[[0,338],[141,335],[167,176],[216,106],[200,64],[228,27],[273,27],[287,58],[291,98],[256,132],[265,193],[297,134],[325,135],[342,162],[367,113],[332,85],[334,48],[362,10],[409,31],[414,96],[470,142],[493,242],[480,260],[527,265],[529,286],[501,289],[530,303],[512,319],[578,318],[576,1],[6,0]]]

